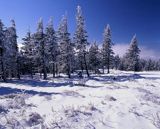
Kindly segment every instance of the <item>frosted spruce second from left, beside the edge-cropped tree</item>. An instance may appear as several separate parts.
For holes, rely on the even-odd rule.
[[[17,77],[20,79],[18,66],[18,46],[15,21],[11,20],[12,26],[5,31],[6,40],[6,65],[9,77]]]

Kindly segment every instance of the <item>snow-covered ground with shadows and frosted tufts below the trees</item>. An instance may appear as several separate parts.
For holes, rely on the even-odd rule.
[[[160,129],[160,72],[1,82],[5,128]]]

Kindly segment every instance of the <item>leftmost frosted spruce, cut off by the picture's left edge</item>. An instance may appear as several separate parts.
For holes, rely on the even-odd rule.
[[[6,71],[5,71],[5,37],[3,23],[0,20],[0,76],[3,81],[6,81]]]

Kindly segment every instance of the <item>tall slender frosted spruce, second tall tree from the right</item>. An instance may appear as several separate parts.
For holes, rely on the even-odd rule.
[[[111,40],[111,29],[107,25],[103,33],[103,45],[102,45],[102,56],[103,56],[103,66],[107,67],[107,73],[110,73],[110,65],[113,62],[114,52],[112,50],[112,40]]]

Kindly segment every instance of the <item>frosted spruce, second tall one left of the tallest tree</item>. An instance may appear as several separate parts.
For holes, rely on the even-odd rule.
[[[45,31],[46,37],[46,53],[48,57],[49,66],[51,66],[53,77],[56,75],[56,63],[57,56],[59,52],[58,44],[57,44],[57,36],[55,30],[53,28],[53,20],[50,18],[49,23],[46,27]]]

